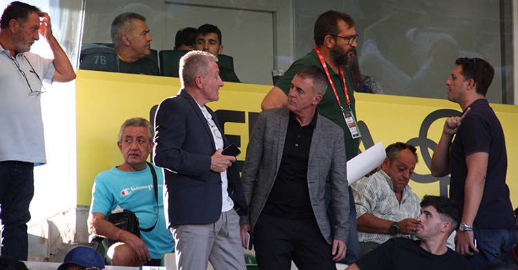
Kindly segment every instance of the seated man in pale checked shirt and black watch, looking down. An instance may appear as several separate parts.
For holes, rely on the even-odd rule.
[[[421,199],[408,186],[416,147],[393,143],[385,151],[381,169],[352,185],[360,257],[390,238],[414,234],[418,224]]]

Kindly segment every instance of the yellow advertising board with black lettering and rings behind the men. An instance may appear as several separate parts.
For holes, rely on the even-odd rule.
[[[270,85],[225,83],[220,101],[208,106],[218,114],[224,134],[240,147],[238,166]],[[135,116],[150,119],[153,108],[180,90],[180,80],[160,76],[117,74],[79,70],[76,80],[77,107],[77,204],[90,205],[93,180],[99,172],[123,163],[117,148],[122,123]],[[446,89],[445,89],[446,91]],[[356,114],[362,131],[361,149],[379,141],[396,141],[418,147],[410,186],[419,196],[448,194],[449,178],[430,175],[430,157],[441,136],[445,117],[459,114],[456,103],[431,98],[356,93]],[[492,104],[506,135],[507,183],[515,207],[518,200],[518,106]],[[153,121],[152,121],[153,122]]]

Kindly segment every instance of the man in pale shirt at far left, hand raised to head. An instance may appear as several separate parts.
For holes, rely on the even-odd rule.
[[[42,79],[75,79],[68,56],[52,34],[50,17],[19,1],[3,10],[0,19],[0,219],[2,255],[27,260],[27,222],[34,194],[33,169],[46,163],[39,94]],[[45,37],[54,59],[29,52]]]

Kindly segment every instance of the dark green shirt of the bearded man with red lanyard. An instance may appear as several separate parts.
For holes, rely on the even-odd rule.
[[[282,76],[282,78],[276,84],[276,87],[279,87],[282,92],[286,94],[289,93],[289,86],[291,80],[294,78],[295,74],[303,67],[316,66],[323,70],[322,64],[316,55],[315,50],[311,50],[306,56],[301,59],[295,61],[287,72]],[[329,64],[327,65],[329,66]],[[352,84],[351,75],[349,74],[349,69],[346,66],[343,66],[343,71],[345,74],[345,83],[347,84],[347,94],[349,94],[349,100],[351,101],[351,110],[356,115],[356,103],[354,100],[354,89]],[[329,68],[329,75],[336,87],[336,93],[338,94],[338,98],[340,98],[340,102],[344,108],[347,108],[347,98],[345,98],[345,92],[343,87],[343,79],[340,74],[336,74],[332,69]],[[360,139],[353,139],[351,136],[351,132],[349,132],[349,128],[345,123],[343,118],[343,114],[340,111],[340,107],[338,107],[338,102],[336,101],[336,97],[334,96],[333,89],[331,85],[327,85],[327,91],[322,98],[322,101],[318,104],[317,107],[318,113],[329,118],[331,121],[339,125],[344,129],[345,136],[345,152],[347,152],[347,160],[354,158],[358,154],[358,147],[360,145]],[[356,118],[357,119],[357,118]]]

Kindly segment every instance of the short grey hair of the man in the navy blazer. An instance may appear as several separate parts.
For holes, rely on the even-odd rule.
[[[196,76],[207,76],[211,71],[209,63],[218,62],[210,52],[193,50],[180,59],[180,83],[182,87],[193,86]]]

